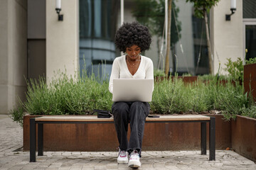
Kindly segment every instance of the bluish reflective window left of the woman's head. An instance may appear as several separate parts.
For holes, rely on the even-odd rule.
[[[116,57],[114,33],[118,3],[115,0],[80,0],[80,73],[110,74]],[[104,69],[104,70],[103,70]]]

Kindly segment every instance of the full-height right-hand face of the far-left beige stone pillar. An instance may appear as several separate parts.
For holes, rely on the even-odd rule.
[[[9,1],[8,34],[8,109],[24,98],[27,74],[27,19],[26,0]]]

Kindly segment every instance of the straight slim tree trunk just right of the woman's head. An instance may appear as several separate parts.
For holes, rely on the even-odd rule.
[[[167,42],[166,42],[166,63],[165,63],[165,74],[166,76],[169,73],[169,55],[171,51],[171,2],[168,0],[168,26],[167,26]]]

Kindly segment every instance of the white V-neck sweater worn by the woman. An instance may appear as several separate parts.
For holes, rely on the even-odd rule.
[[[125,55],[117,57],[112,64],[109,84],[110,93],[113,93],[113,79],[154,79],[153,62],[150,58],[142,56],[137,72],[132,75],[127,67]]]

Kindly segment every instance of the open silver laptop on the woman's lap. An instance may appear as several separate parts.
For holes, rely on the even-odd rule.
[[[153,79],[113,79],[112,101],[152,101]]]

